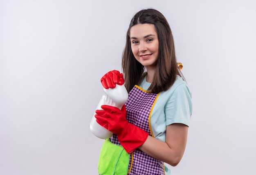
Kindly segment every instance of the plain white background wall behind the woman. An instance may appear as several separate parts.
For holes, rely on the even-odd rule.
[[[0,0],[1,175],[97,174],[100,78],[121,71],[130,19],[149,7],[193,96],[172,175],[255,174],[255,0]]]

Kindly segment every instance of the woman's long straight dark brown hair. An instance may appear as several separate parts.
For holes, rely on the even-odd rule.
[[[132,54],[130,43],[130,28],[137,24],[153,24],[159,40],[157,67],[153,81],[148,90],[153,93],[166,91],[173,85],[176,76],[182,76],[175,56],[175,48],[171,28],[162,13],[155,9],[143,9],[132,18],[126,33],[126,46],[122,55],[122,69],[125,86],[128,92],[139,84],[144,75],[145,67]]]

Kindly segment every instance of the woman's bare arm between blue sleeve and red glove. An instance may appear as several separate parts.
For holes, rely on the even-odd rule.
[[[176,166],[184,154],[189,127],[181,123],[173,123],[166,127],[166,141],[148,136],[144,144],[138,148],[144,153]]]

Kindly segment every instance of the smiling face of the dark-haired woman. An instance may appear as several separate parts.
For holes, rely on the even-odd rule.
[[[147,69],[155,68],[158,58],[159,41],[155,25],[137,24],[130,28],[132,54]]]

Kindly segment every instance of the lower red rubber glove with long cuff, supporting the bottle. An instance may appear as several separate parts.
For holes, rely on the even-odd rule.
[[[109,105],[102,105],[101,108],[103,110],[96,110],[97,123],[116,134],[127,153],[132,153],[137,147],[144,144],[148,138],[148,132],[128,123],[125,105],[121,110]]]

